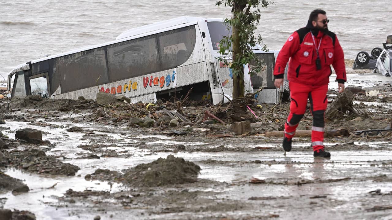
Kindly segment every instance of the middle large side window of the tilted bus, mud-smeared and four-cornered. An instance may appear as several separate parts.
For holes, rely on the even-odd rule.
[[[160,71],[155,36],[107,46],[110,82]]]

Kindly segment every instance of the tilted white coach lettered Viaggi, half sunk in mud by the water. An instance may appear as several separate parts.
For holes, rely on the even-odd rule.
[[[221,18],[179,17],[120,34],[116,40],[29,61],[12,70],[12,95],[95,99],[98,92],[132,102],[176,96],[211,100],[232,97],[232,73],[219,61],[219,41],[231,34]],[[260,50],[259,50],[260,51]],[[229,60],[230,61],[230,60]],[[253,92],[244,66],[245,93]]]

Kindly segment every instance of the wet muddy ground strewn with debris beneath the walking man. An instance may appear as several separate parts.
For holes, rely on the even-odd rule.
[[[346,87],[377,89],[379,94],[354,94],[354,108],[360,115],[344,114],[326,127],[354,132],[388,126],[391,81],[370,70],[352,71]],[[337,83],[331,82],[330,89],[336,88]],[[333,99],[336,94],[331,91],[329,96]],[[127,126],[124,112],[124,119],[113,123],[110,117],[96,120],[96,108],[54,111],[44,105],[44,109],[29,106],[9,113],[4,111],[5,103],[5,124],[0,128],[9,147],[2,150],[9,163],[2,173],[22,180],[30,190],[3,190],[0,207],[30,211],[36,219],[392,218],[388,131],[326,138],[331,158],[315,159],[310,138],[294,138],[293,150],[284,154],[281,137],[263,135],[283,129],[288,103],[252,106],[259,119],[252,120],[251,135],[229,132],[230,124],[196,123],[205,110],[214,112],[216,106],[181,106],[182,114],[194,123],[191,126],[135,128]],[[113,112],[107,111],[111,116]],[[310,129],[311,120],[308,112],[299,129]],[[80,129],[68,130],[75,126]],[[42,131],[42,139],[50,144],[15,140],[21,128]],[[186,134],[173,136],[172,130]],[[223,134],[232,136],[216,137]],[[26,149],[40,150],[41,156],[17,159]],[[170,155],[184,161],[174,161]],[[80,170],[67,176],[60,174],[61,164],[54,164],[56,169],[41,167],[53,159]],[[169,160],[174,162],[166,164]],[[147,165],[138,170],[139,164]],[[197,166],[201,170],[194,175]]]

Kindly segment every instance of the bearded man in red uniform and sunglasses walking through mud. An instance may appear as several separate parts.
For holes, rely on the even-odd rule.
[[[289,61],[290,114],[285,123],[283,149],[291,150],[291,139],[306,111],[307,100],[313,115],[312,146],[314,157],[330,157],[324,150],[324,114],[327,109],[327,91],[332,65],[336,72],[339,92],[344,91],[346,68],[343,49],[336,35],[328,31],[325,11],[310,13],[306,27],[289,37],[280,50],[274,69],[275,86],[283,85],[283,74]]]

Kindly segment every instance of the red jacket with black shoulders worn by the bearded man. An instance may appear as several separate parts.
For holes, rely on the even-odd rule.
[[[274,77],[283,78],[287,61],[289,61],[288,79],[296,83],[319,86],[329,83],[329,76],[332,74],[330,65],[335,69],[336,81],[344,83],[346,81],[346,67],[344,63],[343,49],[338,38],[330,31],[314,31],[314,44],[312,31],[303,27],[294,32],[280,50],[276,60]],[[316,68],[317,52],[319,46],[319,57],[321,69]]]

